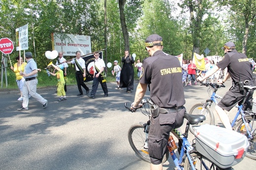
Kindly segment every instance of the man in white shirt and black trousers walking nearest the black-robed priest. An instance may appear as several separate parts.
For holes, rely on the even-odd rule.
[[[91,91],[91,95],[88,95],[90,98],[95,98],[96,91],[98,89],[98,83],[100,83],[102,90],[104,92],[103,97],[108,97],[108,89],[105,79],[105,72],[104,68],[106,67],[105,62],[103,59],[99,58],[99,53],[94,53],[94,81],[93,81],[93,87]]]

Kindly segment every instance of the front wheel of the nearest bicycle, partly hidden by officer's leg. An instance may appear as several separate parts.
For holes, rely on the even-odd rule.
[[[131,148],[136,155],[143,161],[150,163],[150,157],[148,149],[144,148],[145,143],[144,127],[140,124],[132,125],[128,131],[128,140]],[[166,149],[166,153],[163,156],[162,163],[166,162],[169,157],[169,151]]]

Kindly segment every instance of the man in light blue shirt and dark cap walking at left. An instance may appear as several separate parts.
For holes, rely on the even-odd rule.
[[[38,80],[36,78],[37,76],[37,65],[32,58],[31,52],[25,53],[27,65],[25,67],[25,72],[21,73],[23,77],[25,78],[25,84],[23,86],[23,103],[22,107],[17,109],[18,111],[26,111],[29,110],[29,93],[31,96],[40,102],[43,105],[43,109],[47,107],[47,100],[44,99],[40,94],[36,92],[36,86],[38,83]]]

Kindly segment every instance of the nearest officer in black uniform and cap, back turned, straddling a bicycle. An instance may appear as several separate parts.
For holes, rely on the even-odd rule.
[[[150,57],[143,60],[142,76],[136,89],[131,109],[141,107],[140,101],[150,89],[152,102],[159,107],[160,112],[152,112],[149,131],[149,155],[151,169],[162,169],[162,158],[166,152],[170,131],[183,124],[186,112],[182,70],[177,57],[165,55],[162,52],[162,37],[150,35],[145,42]]]

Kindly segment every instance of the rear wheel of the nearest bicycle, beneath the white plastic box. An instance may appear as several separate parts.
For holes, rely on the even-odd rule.
[[[199,152],[194,152],[190,156],[193,160],[195,170],[222,170],[219,167],[217,167],[214,163],[212,163],[210,160],[201,155]],[[188,157],[186,158],[184,163],[184,170],[192,170]]]

